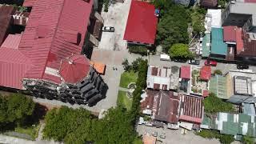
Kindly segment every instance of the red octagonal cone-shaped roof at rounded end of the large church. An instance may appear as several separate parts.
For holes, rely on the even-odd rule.
[[[90,61],[84,55],[73,55],[62,61],[59,74],[65,82],[77,83],[85,78],[90,71]]]

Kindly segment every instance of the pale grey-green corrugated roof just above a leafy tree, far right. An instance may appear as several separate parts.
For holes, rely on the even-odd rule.
[[[229,99],[226,94],[226,77],[216,75],[210,78],[210,92],[217,95],[218,98]]]

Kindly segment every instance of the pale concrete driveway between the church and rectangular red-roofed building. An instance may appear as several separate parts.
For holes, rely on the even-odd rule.
[[[104,26],[114,26],[114,33],[102,32],[101,42],[98,48],[102,50],[126,50],[126,41],[123,36],[126,30],[126,22],[130,10],[131,0],[126,0],[123,3],[116,2],[111,5],[108,12],[102,10],[102,18]]]

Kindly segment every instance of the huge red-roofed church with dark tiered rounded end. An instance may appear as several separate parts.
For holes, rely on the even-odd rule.
[[[8,35],[0,47],[0,86],[89,106],[105,98],[106,83],[81,55],[98,41],[87,30],[94,1],[26,0],[24,5],[33,7],[25,31]]]

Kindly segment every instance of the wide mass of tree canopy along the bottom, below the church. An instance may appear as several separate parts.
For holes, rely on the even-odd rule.
[[[136,138],[130,114],[122,107],[111,108],[98,120],[85,109],[62,106],[46,114],[44,138],[65,143],[132,143]]]

